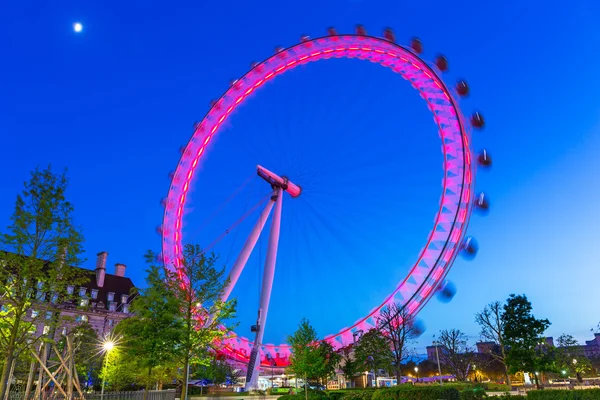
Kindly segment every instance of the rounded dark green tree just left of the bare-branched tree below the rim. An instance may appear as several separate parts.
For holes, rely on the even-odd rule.
[[[354,348],[354,357],[359,366],[373,371],[375,379],[380,369],[389,369],[394,361],[390,343],[377,329],[362,335]]]

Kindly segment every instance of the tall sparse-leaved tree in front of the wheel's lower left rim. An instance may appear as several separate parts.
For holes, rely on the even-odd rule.
[[[218,257],[207,255],[200,246],[188,244],[183,249],[181,266],[169,266],[168,286],[179,301],[183,329],[183,381],[189,380],[190,365],[209,364],[212,346],[232,329],[221,325],[235,313],[235,300],[221,301],[227,284],[225,268],[216,268]],[[183,281],[185,284],[181,284]],[[187,387],[183,385],[181,398],[186,399]]]

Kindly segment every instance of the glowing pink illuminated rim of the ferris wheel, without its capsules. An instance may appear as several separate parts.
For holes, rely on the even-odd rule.
[[[410,314],[418,313],[440,286],[461,250],[472,211],[472,151],[466,123],[439,73],[411,50],[383,38],[335,34],[306,39],[254,65],[213,103],[185,147],[165,204],[162,249],[165,265],[178,269],[182,258],[182,221],[187,192],[199,160],[229,115],[267,81],[298,65],[329,58],[358,58],[376,62],[408,80],[419,91],[433,114],[442,139],[444,156],[440,206],[425,247],[408,276],[379,306],[352,326],[325,337],[324,340],[335,348],[341,348],[353,342],[355,332],[366,332],[375,327],[375,316],[386,304],[401,303]],[[183,276],[181,278],[185,279]],[[228,355],[245,361],[248,360],[252,342],[231,334],[223,339],[222,348]],[[289,346],[265,344],[261,347],[261,353],[275,360],[278,365],[284,365],[289,356]]]

